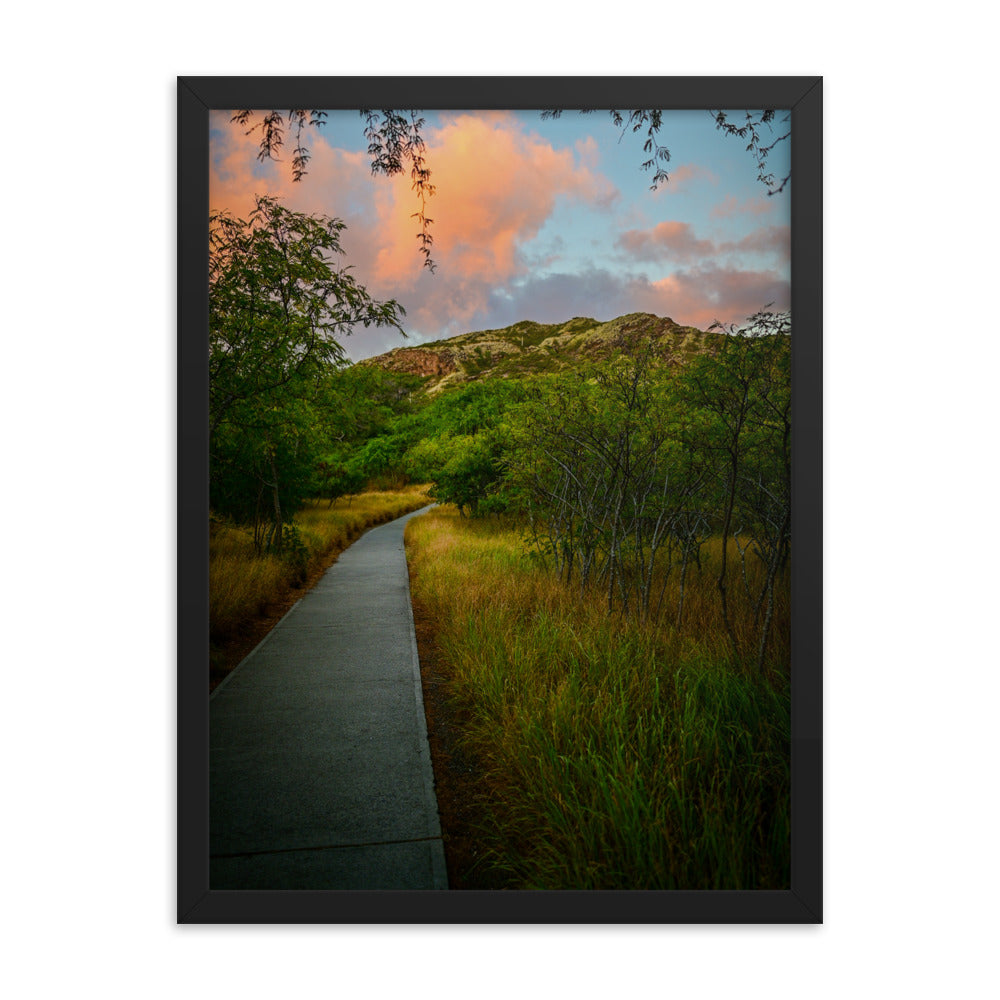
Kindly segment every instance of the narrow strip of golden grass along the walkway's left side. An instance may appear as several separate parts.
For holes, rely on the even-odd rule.
[[[294,518],[295,543],[282,555],[258,556],[253,533],[213,521],[209,536],[209,631],[215,680],[248,641],[263,638],[260,626],[329,566],[362,532],[428,503],[427,488],[361,493],[350,499],[315,500]],[[266,629],[265,629],[266,633]],[[256,645],[254,642],[253,645]],[[251,646],[252,648],[252,646]],[[238,660],[237,660],[238,662]]]

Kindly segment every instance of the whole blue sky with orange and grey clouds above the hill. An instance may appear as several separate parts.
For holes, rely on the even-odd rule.
[[[745,142],[707,111],[664,112],[670,161],[656,191],[641,167],[644,133],[623,135],[606,111],[422,116],[436,188],[426,209],[433,273],[418,252],[409,170],[372,176],[358,112],[332,111],[308,130],[312,159],[298,182],[287,137],[281,162],[260,163],[256,135],[212,113],[211,210],[246,218],[268,194],[342,219],[343,263],[375,298],[406,310],[406,340],[358,327],[343,341],[351,360],[520,320],[650,312],[705,329],[790,306],[790,185],[769,197]],[[784,177],[789,158],[780,143],[769,169]]]

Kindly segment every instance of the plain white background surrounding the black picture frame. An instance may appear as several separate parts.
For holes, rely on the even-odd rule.
[[[7,11],[0,891],[11,995],[996,988],[985,9],[952,3],[936,20],[856,0]],[[298,73],[825,77],[823,926],[175,925],[175,78]]]

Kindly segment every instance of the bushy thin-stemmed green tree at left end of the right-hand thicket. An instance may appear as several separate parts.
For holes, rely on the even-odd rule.
[[[651,345],[537,384],[514,415],[507,465],[532,532],[556,570],[581,590],[599,584],[642,618],[654,603],[657,555],[682,498],[671,377]]]

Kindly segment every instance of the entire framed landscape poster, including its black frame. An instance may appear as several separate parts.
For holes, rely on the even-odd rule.
[[[179,922],[821,921],[821,97],[179,79]]]

